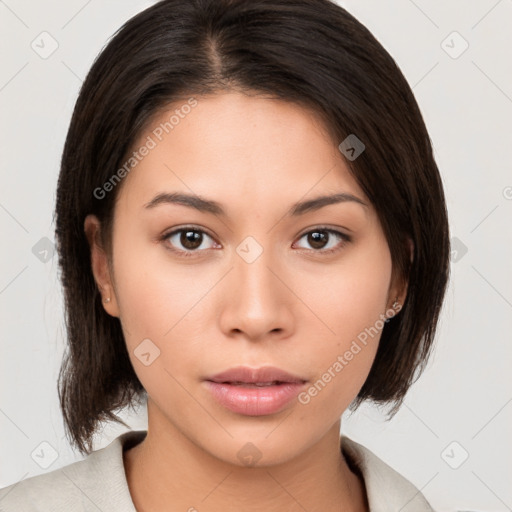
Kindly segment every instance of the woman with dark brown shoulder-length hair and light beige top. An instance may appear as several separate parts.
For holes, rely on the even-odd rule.
[[[328,0],[163,0],[94,63],[56,238],[59,394],[88,454],[3,510],[432,510],[340,437],[396,412],[449,277],[444,193],[410,87]],[[91,453],[147,400],[148,430]]]

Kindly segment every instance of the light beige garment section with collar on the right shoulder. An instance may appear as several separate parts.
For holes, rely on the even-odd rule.
[[[363,477],[370,512],[433,512],[421,491],[371,450],[346,436],[341,446]]]

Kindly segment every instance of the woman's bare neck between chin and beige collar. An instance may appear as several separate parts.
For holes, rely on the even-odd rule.
[[[240,467],[213,457],[178,430],[151,428],[124,452],[138,512],[367,511],[364,483],[340,451],[340,422],[293,460]]]

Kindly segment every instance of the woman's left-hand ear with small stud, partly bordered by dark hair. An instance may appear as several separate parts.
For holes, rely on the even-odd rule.
[[[109,315],[119,317],[108,257],[101,243],[101,222],[95,215],[87,215],[84,221],[84,231],[91,251],[92,273],[100,291],[103,308]],[[105,302],[105,299],[110,300]]]

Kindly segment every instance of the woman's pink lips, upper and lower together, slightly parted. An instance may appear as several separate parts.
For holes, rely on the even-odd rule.
[[[307,380],[273,366],[231,368],[205,379],[213,398],[232,412],[264,416],[283,410]],[[267,384],[256,386],[256,384]]]

